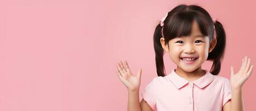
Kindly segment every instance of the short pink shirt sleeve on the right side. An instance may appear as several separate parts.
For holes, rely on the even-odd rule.
[[[223,102],[222,102],[222,107],[224,107],[224,105],[229,102],[229,100],[231,99],[231,87],[230,87],[230,82],[229,79],[225,78],[225,82],[224,82],[224,90],[223,90]]]

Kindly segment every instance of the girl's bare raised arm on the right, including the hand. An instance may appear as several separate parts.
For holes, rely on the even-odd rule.
[[[250,65],[250,59],[246,56],[243,58],[242,65],[238,73],[235,74],[233,67],[231,67],[230,85],[232,99],[224,105],[224,111],[244,110],[242,86],[252,74],[252,70],[253,65]]]

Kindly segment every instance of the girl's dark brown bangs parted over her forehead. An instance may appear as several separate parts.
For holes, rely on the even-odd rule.
[[[167,27],[164,27],[163,30],[167,30],[164,32],[167,32],[166,36],[169,39],[190,36],[192,32],[192,24],[196,21],[203,36],[209,36],[211,32],[211,24],[207,23],[206,19],[207,18],[205,18],[203,14],[197,13],[196,11],[183,10],[170,17],[170,19],[168,19]]]

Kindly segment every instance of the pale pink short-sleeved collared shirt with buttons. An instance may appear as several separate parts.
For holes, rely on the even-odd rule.
[[[219,111],[231,99],[229,79],[205,70],[203,77],[189,82],[174,70],[155,77],[141,92],[153,110]]]

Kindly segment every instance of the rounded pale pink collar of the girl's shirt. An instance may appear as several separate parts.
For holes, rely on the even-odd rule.
[[[172,83],[175,85],[177,89],[182,88],[184,85],[188,84],[189,81],[180,77],[175,71],[175,69],[172,70],[172,72],[167,75],[168,78],[172,81]],[[214,75],[212,75],[207,70],[204,70],[206,72],[205,75],[203,75],[201,78],[198,78],[197,80],[194,80],[192,83],[196,84],[199,88],[204,88],[208,84],[214,80]]]

